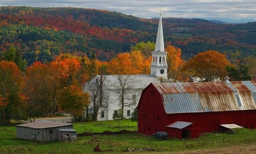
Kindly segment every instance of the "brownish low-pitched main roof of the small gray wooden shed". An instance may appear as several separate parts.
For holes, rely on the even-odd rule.
[[[41,120],[41,121],[36,121],[36,122],[33,122],[33,123],[21,124],[21,125],[16,125],[16,126],[41,129],[41,128],[61,127],[61,126],[67,126],[67,125],[73,125],[73,124]]]

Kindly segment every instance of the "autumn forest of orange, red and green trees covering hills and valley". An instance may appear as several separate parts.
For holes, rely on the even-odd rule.
[[[169,82],[255,79],[256,22],[162,20]],[[107,10],[0,7],[1,123],[61,109],[88,120],[84,83],[97,74],[149,74],[157,25]]]

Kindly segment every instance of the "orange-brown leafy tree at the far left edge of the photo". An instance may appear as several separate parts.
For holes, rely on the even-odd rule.
[[[20,90],[22,83],[22,72],[19,70],[17,65],[13,62],[7,62],[5,60],[0,61],[0,111],[2,115],[1,123],[3,125],[7,122],[10,123],[11,113],[6,114],[6,108],[9,105],[19,102]],[[16,104],[16,107],[18,107]],[[15,106],[13,106],[15,107]],[[9,112],[15,112],[10,111]],[[15,113],[13,113],[15,114]]]

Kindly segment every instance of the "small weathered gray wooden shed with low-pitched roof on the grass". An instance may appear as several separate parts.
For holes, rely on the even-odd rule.
[[[67,130],[61,131],[59,129]],[[47,120],[16,125],[16,130],[18,139],[35,140],[43,142],[56,140],[65,141],[68,139],[72,139],[72,141],[74,141],[77,139],[76,131],[73,129],[73,124],[51,122]],[[60,132],[65,133],[65,135],[62,136],[62,133]]]

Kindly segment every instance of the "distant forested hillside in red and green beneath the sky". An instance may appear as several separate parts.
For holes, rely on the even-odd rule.
[[[138,42],[155,42],[157,27],[158,18],[107,10],[0,7],[0,56],[14,46],[28,65],[52,61],[60,53],[108,61]],[[229,25],[163,18],[163,30],[165,45],[181,48],[184,59],[206,50],[256,55],[256,22]]]

